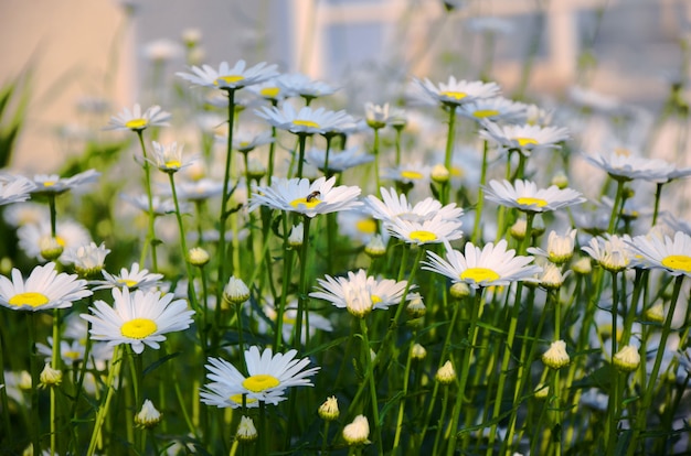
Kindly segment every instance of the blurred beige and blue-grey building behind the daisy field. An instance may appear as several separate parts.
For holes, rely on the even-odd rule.
[[[411,76],[652,117],[689,99],[689,0],[2,0],[0,18],[0,133],[24,117],[23,172],[57,171],[124,107],[167,109],[185,65],[240,58],[340,86],[358,112]]]

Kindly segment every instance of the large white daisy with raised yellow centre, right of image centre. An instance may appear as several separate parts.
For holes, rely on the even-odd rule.
[[[448,242],[446,259],[427,251],[423,269],[445,275],[454,283],[464,282],[474,289],[493,285],[509,285],[512,282],[538,282],[535,275],[542,268],[530,264],[532,257],[517,256],[515,250],[507,249],[506,239],[496,245],[489,242],[483,248],[466,243],[465,253],[454,250]]]

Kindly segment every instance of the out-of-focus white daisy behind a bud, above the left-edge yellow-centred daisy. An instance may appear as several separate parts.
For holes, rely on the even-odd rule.
[[[36,225],[24,225],[17,230],[17,237],[19,238],[19,247],[26,257],[42,260],[42,242],[52,238],[51,222],[43,219]],[[68,250],[88,245],[92,238],[83,225],[74,220],[62,219],[57,220],[55,225],[55,241],[63,250]]]

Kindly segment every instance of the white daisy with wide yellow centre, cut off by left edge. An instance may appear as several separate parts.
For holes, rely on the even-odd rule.
[[[35,267],[26,281],[18,269],[12,269],[12,280],[0,276],[0,305],[13,311],[66,308],[92,294],[86,290],[85,280],[74,274],[57,273],[52,262]]]

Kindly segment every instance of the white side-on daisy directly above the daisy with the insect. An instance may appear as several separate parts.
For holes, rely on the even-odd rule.
[[[296,134],[325,134],[343,128],[357,128],[355,119],[343,110],[330,111],[305,106],[296,111],[293,105],[284,104],[281,108],[264,106],[254,112],[269,124]]]

